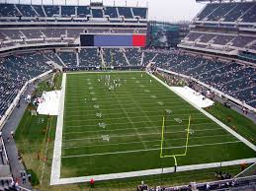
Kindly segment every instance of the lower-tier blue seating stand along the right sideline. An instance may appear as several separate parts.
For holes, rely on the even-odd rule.
[[[192,76],[229,96],[255,106],[256,68],[175,51],[157,53],[153,61],[160,68]]]

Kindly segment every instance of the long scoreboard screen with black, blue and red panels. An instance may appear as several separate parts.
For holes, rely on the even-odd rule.
[[[139,46],[146,45],[146,34],[130,33],[81,33],[81,46]]]

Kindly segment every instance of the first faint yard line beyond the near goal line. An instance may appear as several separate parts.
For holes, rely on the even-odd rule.
[[[198,137],[190,137],[190,139],[204,139],[204,138],[216,138],[216,137],[225,137],[225,136],[231,136],[230,134],[219,134],[219,135],[209,135],[209,136],[198,136]],[[176,139],[165,139],[165,141],[177,141],[177,140],[183,140],[187,138],[176,138]],[[153,142],[159,142],[160,144],[160,139],[157,140],[151,140],[151,141],[142,141],[145,143],[153,143]],[[68,149],[77,149],[77,148],[93,148],[93,147],[108,147],[108,146],[119,146],[119,145],[132,145],[136,143],[141,143],[141,142],[122,142],[118,144],[95,144],[95,145],[82,145],[82,146],[70,146],[70,147],[62,147],[63,150],[68,150]]]

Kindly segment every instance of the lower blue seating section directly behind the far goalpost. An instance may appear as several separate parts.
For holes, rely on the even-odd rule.
[[[105,65],[110,66],[128,66],[128,62],[121,48],[104,48],[103,58]]]

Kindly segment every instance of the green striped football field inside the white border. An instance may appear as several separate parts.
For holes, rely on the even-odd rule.
[[[115,81],[115,82],[114,82]],[[68,73],[61,177],[255,158],[245,144],[144,72]]]

